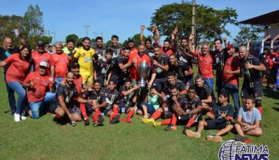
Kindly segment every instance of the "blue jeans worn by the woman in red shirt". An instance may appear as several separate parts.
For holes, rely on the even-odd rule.
[[[18,81],[8,82],[8,86],[11,89],[13,89],[15,93],[17,93],[18,95],[17,104],[15,106],[16,107],[15,113],[21,114],[26,102],[26,90],[22,87],[22,84]]]

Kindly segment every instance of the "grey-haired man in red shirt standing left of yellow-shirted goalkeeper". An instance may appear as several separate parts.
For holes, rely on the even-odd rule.
[[[61,81],[64,77],[66,77],[66,73],[68,72],[68,55],[63,53],[63,45],[61,42],[56,42],[55,44],[55,53],[52,54],[52,58],[55,65],[55,81],[56,88],[60,85]]]

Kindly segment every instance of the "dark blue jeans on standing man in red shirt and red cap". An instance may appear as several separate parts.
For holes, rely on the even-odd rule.
[[[231,83],[223,83],[222,91],[229,92],[232,95],[232,100],[234,101],[234,117],[236,117],[239,113],[239,86],[231,84]]]

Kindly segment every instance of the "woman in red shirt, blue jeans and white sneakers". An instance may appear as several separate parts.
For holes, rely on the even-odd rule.
[[[31,61],[31,49],[24,45],[20,49],[20,54],[12,54],[0,62],[0,67],[10,65],[7,70],[6,81],[8,86],[18,95],[14,114],[15,122],[26,119],[26,117],[21,116],[26,101],[26,90],[22,87],[22,82],[27,77],[27,74],[29,74]]]

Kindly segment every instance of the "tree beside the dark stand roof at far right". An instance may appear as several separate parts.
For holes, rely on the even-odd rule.
[[[262,40],[264,33],[264,26],[244,26],[241,31],[234,38],[236,46],[247,45],[249,40],[258,41]]]

